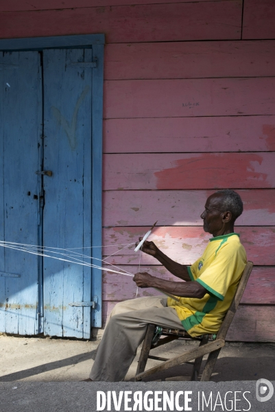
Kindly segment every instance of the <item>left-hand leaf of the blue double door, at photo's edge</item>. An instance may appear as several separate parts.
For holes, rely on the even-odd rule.
[[[0,239],[39,243],[42,82],[38,52],[0,56]],[[37,255],[0,248],[0,331],[38,333]]]

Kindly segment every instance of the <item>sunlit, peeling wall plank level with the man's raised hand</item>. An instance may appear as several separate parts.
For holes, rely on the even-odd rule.
[[[139,236],[144,236],[150,227],[112,227],[103,230],[104,255],[115,253],[107,259],[111,264],[138,265],[139,252],[134,253],[134,245],[122,247],[119,244],[136,242]],[[257,266],[275,265],[275,228],[274,227],[238,227],[241,243],[246,249],[248,260]],[[208,240],[209,233],[204,233],[202,227],[156,227],[149,240],[166,253],[169,258],[181,264],[192,264],[200,258]],[[114,247],[110,247],[114,245]],[[108,249],[108,252],[106,251]],[[142,265],[158,265],[152,256],[142,254]]]

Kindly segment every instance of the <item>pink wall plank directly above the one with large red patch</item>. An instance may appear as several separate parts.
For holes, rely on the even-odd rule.
[[[275,150],[275,116],[104,120],[105,153],[182,150],[195,153]]]

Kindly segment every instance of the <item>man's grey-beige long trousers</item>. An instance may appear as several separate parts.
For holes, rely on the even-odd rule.
[[[123,301],[110,314],[97,349],[90,378],[108,382],[123,380],[145,338],[148,323],[182,329],[174,308],[163,296]]]

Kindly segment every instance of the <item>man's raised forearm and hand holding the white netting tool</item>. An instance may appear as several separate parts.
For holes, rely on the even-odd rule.
[[[140,238],[140,240],[141,239],[142,238]],[[145,241],[141,250],[144,253],[147,253],[147,255],[154,256],[154,258],[156,258],[158,262],[163,264],[163,266],[167,268],[167,271],[172,273],[172,275],[179,277],[186,282],[189,282],[191,280],[187,271],[187,266],[174,262],[174,260],[168,258],[167,255],[165,255],[162,251],[160,251],[160,249],[158,249],[158,247],[156,247],[156,244],[154,244],[154,242]]]

